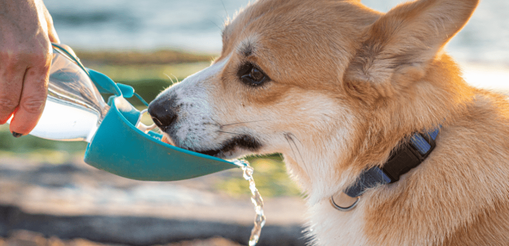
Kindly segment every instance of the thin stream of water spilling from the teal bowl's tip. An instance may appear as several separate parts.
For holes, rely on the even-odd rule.
[[[242,168],[243,177],[249,182],[249,190],[251,190],[251,202],[254,204],[254,212],[256,216],[254,217],[254,226],[251,230],[251,236],[249,237],[249,246],[254,246],[257,244],[258,239],[260,239],[260,233],[262,232],[262,227],[265,225],[265,214],[263,212],[263,199],[254,184],[253,179],[253,168],[249,166],[249,163],[245,160],[235,160],[234,163]]]

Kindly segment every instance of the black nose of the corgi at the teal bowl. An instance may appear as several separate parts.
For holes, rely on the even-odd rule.
[[[177,121],[177,110],[173,98],[158,98],[149,104],[149,114],[154,123],[161,129]]]

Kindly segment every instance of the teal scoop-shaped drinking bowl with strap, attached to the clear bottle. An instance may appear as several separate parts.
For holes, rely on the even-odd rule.
[[[84,68],[79,59],[65,51],[87,74],[101,93],[114,94],[95,135],[87,145],[84,161],[98,169],[137,180],[173,181],[199,177],[239,167],[229,161],[178,148],[161,141],[162,135],[136,128],[141,113],[125,98],[137,96],[131,86],[115,83],[106,75]]]

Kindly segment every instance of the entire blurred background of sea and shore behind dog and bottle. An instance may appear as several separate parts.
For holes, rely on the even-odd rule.
[[[151,101],[173,81],[207,67],[221,49],[224,20],[246,0],[45,0],[62,43],[83,64],[132,85]],[[403,1],[363,0],[382,12]],[[509,2],[482,1],[446,50],[467,81],[507,91]],[[141,104],[132,101],[140,109]],[[145,119],[149,120],[149,119]],[[86,144],[0,126],[0,244],[247,244],[254,210],[241,170],[176,182],[142,182],[82,162]],[[304,245],[302,194],[276,153],[247,157],[265,200],[258,245]]]

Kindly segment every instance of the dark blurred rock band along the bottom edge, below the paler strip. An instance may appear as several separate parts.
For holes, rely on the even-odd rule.
[[[37,232],[27,234],[30,236],[24,238],[16,237],[17,240],[25,240],[27,246],[38,246],[43,241],[41,238],[52,236],[67,240],[84,238],[101,243],[149,246],[213,237],[247,244],[251,226],[150,217],[54,216],[26,213],[14,206],[0,205],[0,236],[7,237],[19,230]],[[298,225],[266,226],[257,245],[304,246],[306,240],[302,237],[302,230]]]

